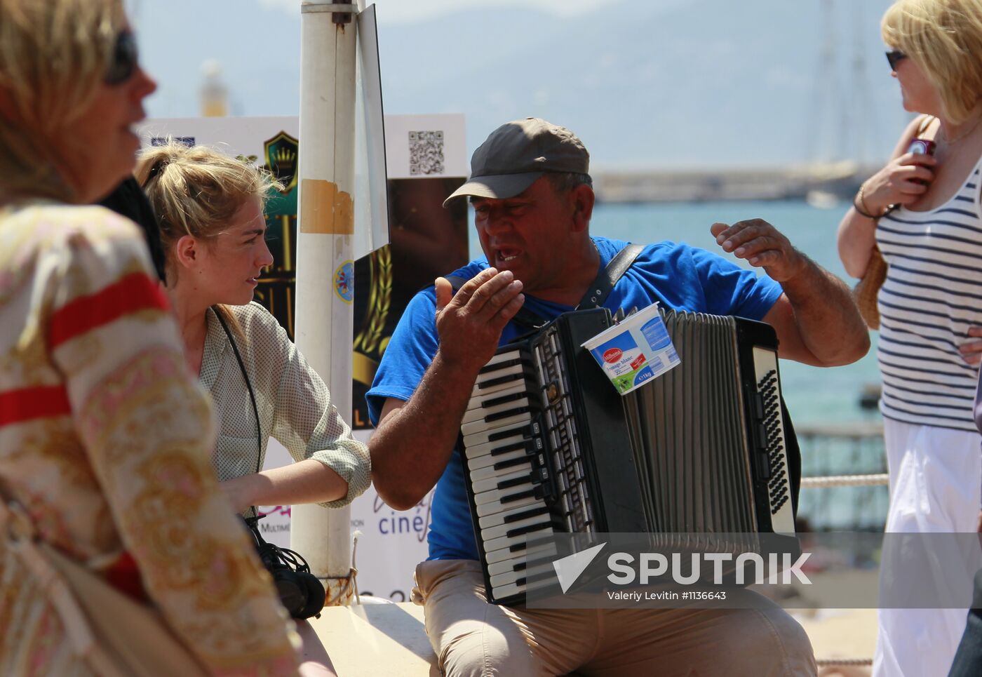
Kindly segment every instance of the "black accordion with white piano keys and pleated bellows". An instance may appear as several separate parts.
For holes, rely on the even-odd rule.
[[[581,348],[605,309],[561,315],[481,369],[461,434],[490,601],[524,601],[531,565],[555,554],[538,536],[794,534],[774,329],[662,317],[682,362],[626,396]]]

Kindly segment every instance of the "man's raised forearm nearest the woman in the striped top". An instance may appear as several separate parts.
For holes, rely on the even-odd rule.
[[[781,283],[801,340],[823,366],[855,362],[869,350],[869,332],[849,289],[811,259],[805,261],[799,274]]]

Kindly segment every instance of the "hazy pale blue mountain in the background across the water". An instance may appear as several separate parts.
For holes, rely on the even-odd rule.
[[[604,168],[873,159],[906,119],[879,36],[889,4],[839,3],[831,68],[820,68],[819,0],[627,0],[566,19],[464,2],[417,23],[380,14],[383,97],[390,113],[464,112],[468,149],[503,122],[545,117]],[[137,21],[161,83],[151,115],[196,114],[208,58],[224,68],[234,113],[297,114],[299,10],[171,0],[143,3]],[[857,53],[865,86],[853,86]]]

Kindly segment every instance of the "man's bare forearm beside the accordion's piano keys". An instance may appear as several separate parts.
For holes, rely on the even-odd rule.
[[[447,364],[438,351],[412,397],[379,422],[368,442],[372,480],[393,508],[408,510],[440,479],[476,377]]]

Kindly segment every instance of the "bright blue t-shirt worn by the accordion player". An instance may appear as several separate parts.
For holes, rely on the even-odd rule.
[[[601,237],[594,237],[593,243],[600,253],[601,266],[606,266],[627,246],[626,242]],[[470,279],[487,267],[487,259],[479,258],[453,274]],[[627,311],[657,301],[667,309],[762,319],[781,294],[781,286],[769,277],[758,277],[754,271],[740,268],[719,254],[663,242],[645,247],[634,259],[604,307],[612,312],[619,308]],[[545,319],[573,310],[571,306],[543,301],[529,294],[525,295],[525,308]],[[371,423],[378,423],[387,398],[409,400],[422,380],[439,343],[435,312],[433,287],[419,292],[409,302],[365,396]],[[524,330],[510,322],[502,333],[500,345],[521,333]],[[454,450],[437,482],[431,516],[429,559],[478,558],[459,449]]]

